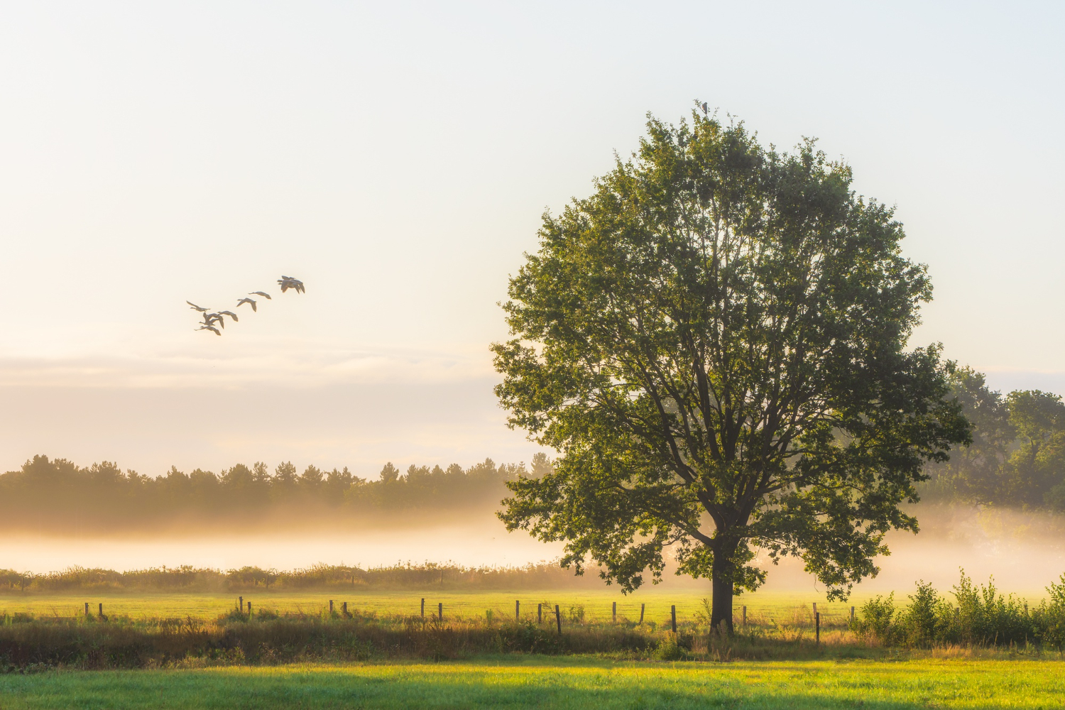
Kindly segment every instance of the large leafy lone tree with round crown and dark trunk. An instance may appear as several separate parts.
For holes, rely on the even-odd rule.
[[[764,149],[742,123],[649,117],[638,153],[545,214],[492,346],[511,427],[560,457],[509,484],[510,530],[566,541],[632,591],[663,549],[733,596],[799,556],[830,598],[917,530],[924,460],[968,441],[938,346],[907,350],[925,268],[891,210],[806,141]]]

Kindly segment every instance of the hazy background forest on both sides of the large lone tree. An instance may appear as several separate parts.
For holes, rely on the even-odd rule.
[[[922,500],[1065,512],[1065,404],[1037,390],[1007,395],[984,375],[958,368],[951,386],[973,425],[972,444],[950,461],[929,464]],[[507,496],[505,483],[540,477],[552,462],[537,453],[530,467],[486,459],[469,468],[384,464],[377,480],[347,468],[299,473],[290,462],[236,464],[219,474],[171,467],[158,478],[122,472],[111,462],[79,467],[35,456],[0,475],[0,529],[84,531],[276,525],[338,521],[393,524],[463,511],[489,511]]]

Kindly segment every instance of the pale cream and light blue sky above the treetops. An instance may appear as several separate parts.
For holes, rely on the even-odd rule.
[[[896,205],[915,345],[1065,394],[1063,32],[1060,3],[3,3],[0,469],[529,461],[492,394],[508,275],[695,100]],[[186,299],[258,290],[194,330]]]

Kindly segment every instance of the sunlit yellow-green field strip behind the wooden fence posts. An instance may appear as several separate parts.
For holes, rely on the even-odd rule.
[[[359,609],[383,615],[413,615],[421,611],[421,599],[425,597],[426,615],[437,613],[437,605],[444,605],[445,618],[484,618],[486,611],[492,610],[496,618],[513,618],[514,601],[521,601],[521,614],[526,618],[535,618],[537,605],[545,605],[554,609],[559,605],[563,618],[571,608],[584,607],[587,621],[608,621],[611,617],[611,605],[618,604],[620,618],[636,621],[640,616],[640,605],[645,606],[645,620],[665,623],[670,615],[670,607],[676,605],[678,620],[691,620],[703,609],[702,599],[707,596],[693,591],[648,590],[635,594],[623,595],[616,590],[545,590],[537,592],[388,592],[388,593],[348,593],[343,592],[308,592],[294,594],[260,593],[245,594],[244,599],[251,601],[256,609],[275,609],[278,611],[304,611],[318,613],[327,609],[329,599],[339,605],[347,601],[350,609]],[[785,623],[808,623],[812,617],[813,602],[817,602],[818,611],[824,624],[842,623],[851,605],[861,605],[868,595],[855,595],[847,604],[828,604],[823,596],[816,594],[752,594],[736,598],[735,615],[737,621],[741,607],[748,607],[750,620],[769,620]],[[903,597],[904,600],[905,597]],[[97,605],[102,602],[105,614],[138,617],[174,617],[198,616],[214,617],[233,609],[236,595],[232,594],[97,594],[93,592],[73,595],[34,594],[34,595],[0,595],[0,614],[4,612],[31,612],[37,616],[71,616],[84,614],[85,602],[96,613]]]

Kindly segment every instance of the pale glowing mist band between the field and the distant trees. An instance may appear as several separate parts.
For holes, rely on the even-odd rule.
[[[917,535],[892,533],[889,557],[878,559],[882,572],[855,587],[855,594],[896,592],[905,596],[924,580],[949,590],[958,567],[978,581],[995,577],[1005,591],[1039,596],[1065,573],[1065,517],[1014,510],[977,510],[962,506],[918,505],[911,511],[921,523]],[[222,571],[243,566],[297,569],[315,563],[363,568],[395,563],[456,563],[460,566],[523,566],[552,561],[560,543],[541,543],[522,531],[508,533],[491,507],[461,515],[410,513],[355,522],[331,530],[297,529],[241,534],[174,530],[151,535],[43,535],[12,531],[0,536],[3,567],[44,574],[78,565],[116,571],[193,565]],[[823,596],[823,587],[785,559],[769,571],[765,592],[803,592]],[[706,580],[677,577],[668,569],[663,589],[708,589]],[[594,576],[594,572],[588,575]]]

